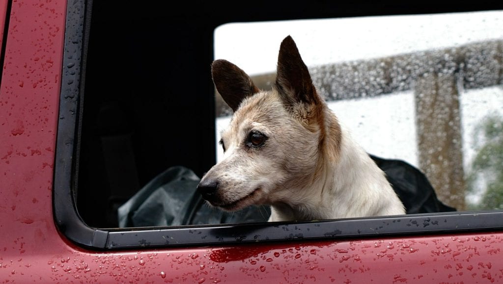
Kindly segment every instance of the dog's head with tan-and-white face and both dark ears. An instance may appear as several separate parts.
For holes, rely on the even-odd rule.
[[[326,123],[326,105],[293,39],[281,43],[272,91],[261,91],[226,60],[213,62],[212,75],[234,115],[221,133],[223,160],[198,185],[203,198],[229,211],[300,198],[327,156],[320,153],[337,152],[323,146],[326,133],[339,130]]]

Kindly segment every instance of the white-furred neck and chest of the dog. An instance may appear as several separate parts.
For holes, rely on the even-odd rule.
[[[339,142],[337,159],[320,160],[316,179],[305,188],[296,188],[299,197],[295,200],[302,203],[292,204],[291,200],[285,200],[273,204],[269,221],[403,214],[402,208],[393,206],[389,211],[389,203],[396,203],[389,182],[365,150],[353,141],[347,129],[341,130]],[[382,206],[378,206],[379,203]]]

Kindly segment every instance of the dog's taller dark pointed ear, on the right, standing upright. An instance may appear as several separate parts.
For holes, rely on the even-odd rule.
[[[316,93],[306,64],[300,57],[297,45],[291,36],[286,37],[280,46],[276,88],[283,104],[289,109],[297,103],[318,104]]]

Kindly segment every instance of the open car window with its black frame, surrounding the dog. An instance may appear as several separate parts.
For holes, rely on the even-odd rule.
[[[194,37],[174,28],[182,18],[146,7],[81,1],[68,9],[54,209],[74,242],[115,249],[503,226],[503,11],[215,20],[188,24],[204,35]],[[260,40],[250,44],[250,35]],[[265,223],[267,207],[230,214],[206,205],[195,187],[221,160],[217,142],[231,114],[213,87],[211,61],[227,59],[271,88],[287,35],[356,140],[377,163],[426,177],[437,207]]]

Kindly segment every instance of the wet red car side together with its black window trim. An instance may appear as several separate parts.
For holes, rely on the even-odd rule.
[[[65,177],[72,172],[70,130],[77,123],[72,108],[82,78],[86,4],[0,3],[0,23],[6,23],[0,29],[2,283],[502,281],[499,211],[290,224],[87,226]],[[61,136],[65,131],[70,134]]]

